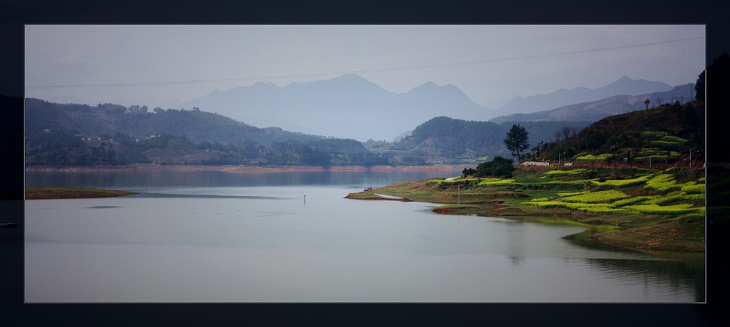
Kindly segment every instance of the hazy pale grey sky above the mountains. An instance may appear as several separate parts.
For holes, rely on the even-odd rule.
[[[704,36],[704,25],[26,25],[26,97],[152,107],[356,72],[392,92],[454,84],[485,104],[621,76],[695,82]]]

